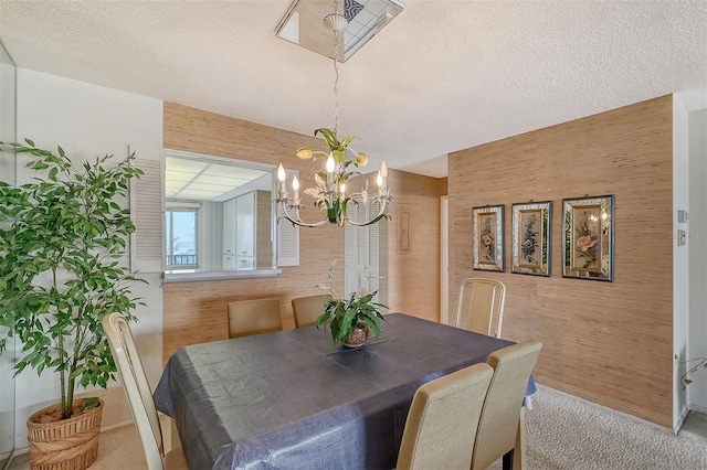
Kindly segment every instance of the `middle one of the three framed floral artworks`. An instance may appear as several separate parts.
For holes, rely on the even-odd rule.
[[[513,204],[510,271],[550,276],[552,201]]]

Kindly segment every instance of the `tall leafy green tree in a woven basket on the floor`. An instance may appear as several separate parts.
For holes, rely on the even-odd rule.
[[[59,404],[28,419],[33,468],[85,468],[97,456],[103,402],[74,399],[77,386],[106,387],[115,363],[101,320],[144,305],[130,287],[144,281],[125,266],[135,231],[124,209],[131,179],[143,172],[135,154],[114,163],[106,154],[74,165],[56,153],[24,143],[0,142],[1,150],[29,156],[33,181],[0,181],[0,353],[8,337],[22,352],[14,365],[38,374],[59,374]],[[65,445],[65,437],[76,432]]]

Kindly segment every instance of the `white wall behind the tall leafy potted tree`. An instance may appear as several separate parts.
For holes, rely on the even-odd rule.
[[[57,145],[68,156],[85,160],[113,153],[126,157],[128,146],[162,148],[162,102],[53,75],[18,68],[17,136],[39,147]],[[162,370],[162,291],[158,274],[145,275],[149,285],[134,292],[148,307],[136,312],[133,328],[151,385]],[[45,372],[24,371],[15,382],[17,446],[27,447],[27,418],[59,397],[59,380]],[[124,393],[117,384],[94,395],[106,402],[104,427],[130,419]]]

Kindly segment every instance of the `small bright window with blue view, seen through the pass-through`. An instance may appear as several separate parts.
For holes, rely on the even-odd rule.
[[[199,267],[199,210],[171,207],[165,213],[167,268]]]

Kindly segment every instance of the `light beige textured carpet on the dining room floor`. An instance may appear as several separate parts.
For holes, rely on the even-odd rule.
[[[168,420],[163,429],[169,434]],[[690,413],[675,436],[669,429],[626,417],[538,385],[526,415],[530,470],[706,470],[707,415]],[[169,437],[166,436],[166,442]],[[11,470],[29,470],[27,455]],[[95,470],[145,469],[134,426],[101,435]],[[492,466],[500,469],[500,460]]]

